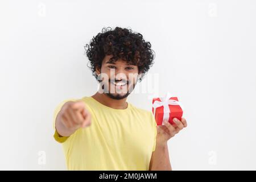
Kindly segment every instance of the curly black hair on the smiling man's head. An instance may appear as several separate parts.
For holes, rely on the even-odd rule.
[[[139,73],[146,73],[154,64],[155,52],[150,42],[143,39],[142,34],[133,32],[130,28],[102,28],[102,32],[93,36],[89,44],[84,47],[92,70],[97,79],[96,68],[101,68],[102,60],[106,55],[113,55],[110,61],[118,59],[138,66]],[[139,81],[143,77],[139,78]]]

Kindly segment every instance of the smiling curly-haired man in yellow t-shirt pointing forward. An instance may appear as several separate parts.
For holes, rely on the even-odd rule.
[[[64,101],[54,115],[68,169],[171,170],[167,141],[187,122],[157,127],[151,111],[126,102],[153,64],[151,44],[126,28],[106,28],[86,45],[86,55],[98,92]]]

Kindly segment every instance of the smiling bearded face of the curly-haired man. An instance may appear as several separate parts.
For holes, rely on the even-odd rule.
[[[115,100],[126,98],[133,91],[138,80],[138,66],[118,59],[111,62],[112,55],[105,56],[101,69],[97,69],[98,79],[102,80],[100,89]],[[100,75],[99,75],[100,74]]]

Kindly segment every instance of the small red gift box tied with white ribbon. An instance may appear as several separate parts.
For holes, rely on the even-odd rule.
[[[152,104],[152,112],[157,125],[163,125],[163,118],[168,119],[172,125],[175,124],[172,121],[174,118],[181,121],[183,109],[177,97],[171,97],[170,94],[167,93],[166,97],[153,98]]]

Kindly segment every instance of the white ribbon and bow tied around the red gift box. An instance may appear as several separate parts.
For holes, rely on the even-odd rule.
[[[164,119],[167,119],[167,121],[168,121],[170,118],[171,111],[170,111],[169,105],[179,105],[181,107],[181,109],[183,108],[179,101],[172,100],[172,99],[170,99],[171,97],[172,97],[171,94],[169,92],[167,92],[165,97],[160,97],[160,101],[155,101],[153,104],[154,115],[155,115],[156,108],[161,107],[161,106],[164,107],[163,121],[164,121]]]

